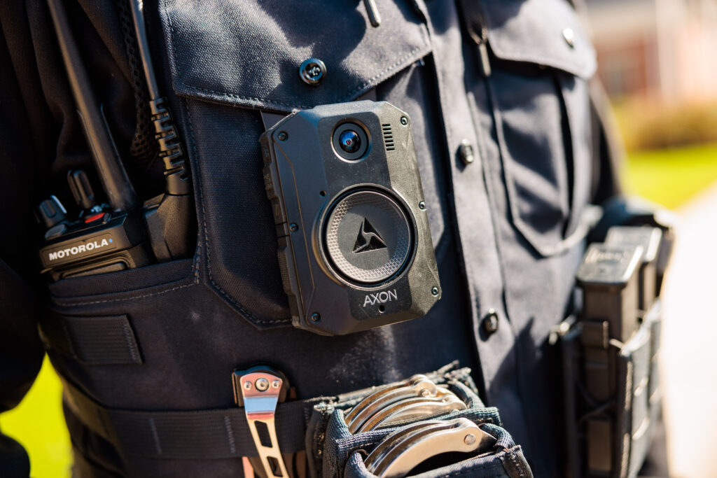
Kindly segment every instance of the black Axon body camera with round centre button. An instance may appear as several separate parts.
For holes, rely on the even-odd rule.
[[[321,105],[261,145],[295,327],[343,335],[425,315],[441,289],[408,115]]]

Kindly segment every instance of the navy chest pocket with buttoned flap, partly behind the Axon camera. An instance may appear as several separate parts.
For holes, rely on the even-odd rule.
[[[169,80],[194,174],[201,281],[257,328],[287,327],[291,317],[256,110],[285,114],[356,100],[374,88],[380,95],[389,78],[429,54],[427,29],[411,1],[379,9],[383,21],[373,28],[356,3],[160,4]],[[310,58],[326,67],[314,85],[300,77]],[[424,157],[423,169],[432,172],[432,158]]]

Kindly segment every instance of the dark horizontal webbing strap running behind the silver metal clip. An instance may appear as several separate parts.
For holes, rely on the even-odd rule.
[[[279,403],[275,426],[282,453],[305,449],[310,411],[321,400]],[[125,454],[166,459],[259,456],[244,408],[199,411],[105,408],[66,381],[65,404],[87,428]]]

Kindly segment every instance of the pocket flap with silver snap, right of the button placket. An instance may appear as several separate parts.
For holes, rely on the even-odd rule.
[[[496,57],[594,75],[595,50],[568,1],[488,0],[484,11]]]

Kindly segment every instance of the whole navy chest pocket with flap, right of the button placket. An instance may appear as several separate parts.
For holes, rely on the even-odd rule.
[[[549,257],[587,234],[594,51],[566,2],[531,1],[511,14],[515,3],[486,12],[495,55],[486,82],[513,226]]]

